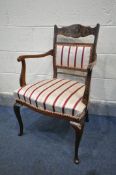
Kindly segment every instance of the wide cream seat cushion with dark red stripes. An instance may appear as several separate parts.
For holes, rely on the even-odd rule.
[[[82,103],[84,90],[82,83],[56,78],[20,87],[14,95],[42,110],[78,116],[85,109]]]

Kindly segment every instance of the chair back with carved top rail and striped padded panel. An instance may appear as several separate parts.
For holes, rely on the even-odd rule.
[[[58,68],[87,71],[88,64],[96,59],[98,32],[99,24],[93,28],[80,24],[61,28],[54,26],[54,77]],[[86,42],[88,36],[93,36],[93,42]]]

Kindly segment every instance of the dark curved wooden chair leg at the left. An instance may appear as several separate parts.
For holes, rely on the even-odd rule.
[[[20,106],[18,104],[14,104],[14,113],[19,123],[20,131],[19,131],[18,136],[22,136],[23,135],[23,122],[22,122],[21,114],[20,114]]]

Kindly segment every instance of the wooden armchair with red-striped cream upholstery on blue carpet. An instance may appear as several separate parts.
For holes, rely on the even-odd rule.
[[[58,28],[54,26],[53,49],[37,55],[22,55],[18,61],[22,64],[20,87],[14,92],[16,102],[14,112],[19,123],[19,136],[23,135],[23,122],[20,107],[27,106],[47,116],[65,119],[75,130],[74,162],[79,163],[78,149],[85,121],[88,121],[88,103],[92,69],[96,63],[96,46],[100,25],[94,28],[79,24]],[[58,36],[77,39],[94,36],[93,43],[59,42]],[[26,84],[26,59],[53,57],[53,78]],[[48,57],[46,57],[48,59]],[[60,70],[85,73],[84,83],[58,78]],[[65,72],[63,72],[65,74]],[[67,74],[67,73],[66,73]],[[72,75],[72,74],[71,74]],[[78,76],[82,76],[77,74]]]

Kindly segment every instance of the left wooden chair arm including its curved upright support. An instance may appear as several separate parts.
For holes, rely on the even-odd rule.
[[[21,61],[22,63],[22,69],[20,74],[20,86],[23,87],[26,85],[26,62],[25,59],[27,58],[42,58],[45,56],[51,55],[53,56],[53,50],[50,50],[44,54],[38,54],[38,55],[21,55],[18,57],[17,61]]]

